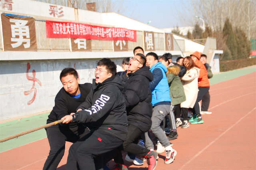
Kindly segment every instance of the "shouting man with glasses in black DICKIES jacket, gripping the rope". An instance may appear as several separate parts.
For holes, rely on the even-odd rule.
[[[122,90],[124,85],[116,76],[116,65],[103,58],[95,68],[92,90],[77,112],[63,117],[63,123],[89,123],[90,133],[69,149],[66,170],[95,170],[103,168],[102,154],[120,146],[127,135],[127,115]],[[95,167],[97,166],[97,167]]]

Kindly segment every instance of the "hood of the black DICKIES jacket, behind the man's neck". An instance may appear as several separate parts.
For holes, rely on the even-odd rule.
[[[92,79],[92,89],[101,89],[107,85],[116,85],[120,91],[124,89],[124,84],[122,83],[122,79],[119,76],[114,75],[113,77],[110,77],[106,80],[104,80],[102,83],[96,84],[95,79]]]

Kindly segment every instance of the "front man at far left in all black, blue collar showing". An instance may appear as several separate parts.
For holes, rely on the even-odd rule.
[[[78,73],[73,68],[65,68],[60,73],[60,81],[63,88],[55,97],[55,105],[48,116],[47,124],[58,121],[66,115],[76,111],[76,108],[84,102],[90,90],[91,83],[79,84]],[[56,170],[65,151],[65,143],[76,142],[88,134],[90,130],[82,124],[69,125],[58,124],[46,128],[47,138],[50,144],[50,153],[43,170]]]

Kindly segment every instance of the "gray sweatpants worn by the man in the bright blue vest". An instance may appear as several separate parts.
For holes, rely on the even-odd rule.
[[[160,127],[160,123],[170,113],[170,105],[158,105],[153,108],[153,114],[151,117],[152,120],[152,126],[151,130],[155,134],[155,136],[158,138],[159,142],[162,144],[162,146],[167,147],[170,146],[170,142],[166,137],[166,134]],[[148,149],[154,149],[154,144],[152,140],[150,140],[148,136],[148,132],[145,133],[145,146]]]

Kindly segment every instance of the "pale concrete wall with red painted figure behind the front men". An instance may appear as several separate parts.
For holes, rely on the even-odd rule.
[[[112,61],[120,64],[122,59],[112,58]],[[66,67],[75,67],[81,79],[80,83],[92,83],[94,68],[99,60],[54,59],[0,61],[0,120],[51,110],[54,106],[55,96],[62,88],[59,79],[61,70]],[[30,69],[27,72],[28,63],[30,64]],[[33,70],[35,70],[36,78],[34,88]],[[29,80],[26,74],[32,80]],[[24,92],[30,89],[32,89],[31,93],[24,95]],[[36,96],[34,96],[35,89]],[[32,99],[34,99],[33,102],[31,102]],[[29,101],[31,104],[28,104]]]

